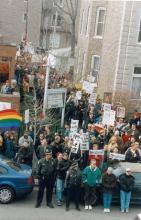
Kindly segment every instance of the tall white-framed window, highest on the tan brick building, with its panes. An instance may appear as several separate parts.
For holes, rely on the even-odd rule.
[[[103,7],[100,7],[97,9],[95,36],[98,38],[103,37],[104,24],[105,24],[105,12],[106,12],[106,9]]]

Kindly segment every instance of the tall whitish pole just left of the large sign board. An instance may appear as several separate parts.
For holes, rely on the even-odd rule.
[[[46,113],[46,107],[47,107],[47,96],[48,96],[48,81],[49,81],[49,72],[50,67],[47,65],[46,67],[46,79],[45,79],[45,89],[44,89],[44,103],[43,103],[43,114]]]

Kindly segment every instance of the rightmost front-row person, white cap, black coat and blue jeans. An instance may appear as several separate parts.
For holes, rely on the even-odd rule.
[[[119,177],[121,212],[128,213],[129,211],[134,179],[135,178],[132,176],[130,168],[126,168],[126,172],[121,174]]]

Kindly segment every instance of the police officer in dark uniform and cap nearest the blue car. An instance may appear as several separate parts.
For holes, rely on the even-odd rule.
[[[54,208],[52,204],[52,194],[56,177],[56,161],[52,158],[52,151],[50,149],[46,149],[45,158],[39,160],[37,175],[39,179],[39,189],[37,193],[37,202],[35,208],[40,207],[45,188],[47,206]]]

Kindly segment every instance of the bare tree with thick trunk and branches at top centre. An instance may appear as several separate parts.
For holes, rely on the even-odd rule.
[[[79,0],[64,0],[64,7],[61,7],[58,0],[54,0],[54,5],[58,10],[67,15],[71,24],[71,57],[75,56],[75,44],[76,44],[76,18],[78,13],[78,1]]]

